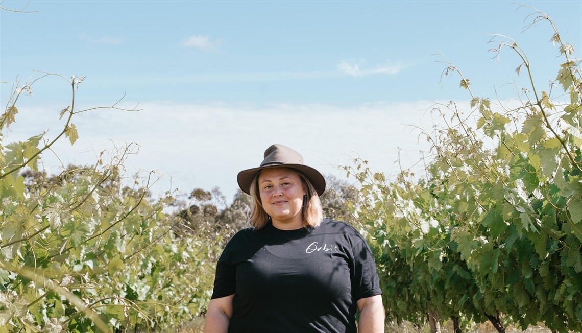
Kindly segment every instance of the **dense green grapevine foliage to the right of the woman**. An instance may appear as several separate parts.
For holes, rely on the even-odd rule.
[[[555,26],[549,17],[537,16]],[[555,30],[565,62],[552,87],[531,87],[516,101],[471,96],[464,118],[455,102],[436,105],[448,126],[432,140],[425,176],[403,170],[388,181],[366,161],[346,167],[361,185],[356,214],[381,274],[388,318],[424,323],[490,320],[501,328],[544,323],[582,330],[582,101],[580,63]],[[448,65],[447,71],[459,72]],[[558,97],[554,97],[554,95]],[[510,107],[509,105],[512,105]]]

